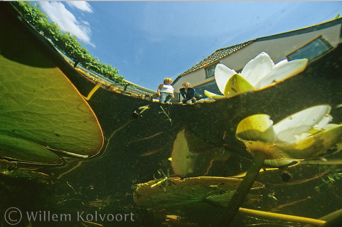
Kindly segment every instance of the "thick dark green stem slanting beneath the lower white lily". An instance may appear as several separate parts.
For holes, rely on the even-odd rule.
[[[238,189],[230,199],[227,208],[224,211],[222,220],[219,225],[220,227],[227,227],[230,225],[246,195],[248,194],[250,188],[252,187],[255,179],[257,178],[264,160],[265,156],[262,153],[254,154],[253,162],[249,167],[246,176],[243,178]]]

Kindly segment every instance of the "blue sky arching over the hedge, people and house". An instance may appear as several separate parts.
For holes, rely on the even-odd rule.
[[[93,56],[156,90],[215,50],[333,19],[342,2],[35,2]]]

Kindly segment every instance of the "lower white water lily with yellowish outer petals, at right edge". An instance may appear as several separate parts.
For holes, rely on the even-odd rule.
[[[297,112],[273,125],[266,114],[256,114],[240,121],[236,137],[251,154],[262,152],[266,159],[295,161],[325,154],[341,142],[342,125],[329,123],[329,105],[319,105]]]

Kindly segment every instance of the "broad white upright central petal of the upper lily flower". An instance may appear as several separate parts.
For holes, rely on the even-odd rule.
[[[255,85],[274,67],[274,62],[265,52],[261,52],[254,59],[251,59],[243,68],[241,75],[250,82],[251,85]]]

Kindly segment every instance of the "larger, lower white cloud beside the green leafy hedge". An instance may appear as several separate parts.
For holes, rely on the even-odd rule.
[[[40,2],[40,6],[50,20],[57,23],[62,30],[69,31],[70,34],[76,35],[80,41],[95,48],[91,42],[92,30],[88,22],[79,22],[61,2]]]

